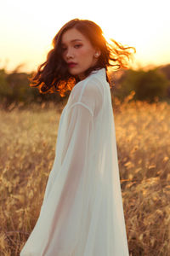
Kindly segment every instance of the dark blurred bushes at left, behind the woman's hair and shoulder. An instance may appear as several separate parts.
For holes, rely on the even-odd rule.
[[[4,108],[8,108],[11,103],[23,105],[31,102],[63,102],[59,93],[41,94],[35,87],[30,87],[29,77],[31,74],[19,73],[17,70],[12,73],[6,73],[4,69],[0,70],[0,102]]]

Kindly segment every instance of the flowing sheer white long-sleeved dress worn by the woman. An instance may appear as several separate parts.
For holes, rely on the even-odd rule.
[[[78,82],[59,119],[54,166],[20,256],[128,256],[110,85]]]

